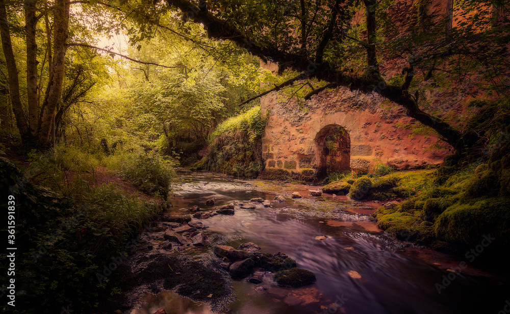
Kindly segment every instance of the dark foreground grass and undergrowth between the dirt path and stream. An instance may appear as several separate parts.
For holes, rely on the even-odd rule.
[[[123,258],[127,239],[150,221],[156,206],[111,186],[75,201],[32,184],[3,158],[0,164],[6,172],[1,188],[17,202],[16,268],[23,271],[16,272],[16,289],[25,293],[16,297],[15,312],[53,313],[69,305],[93,311],[109,293],[108,279],[100,284],[96,274],[112,258]]]

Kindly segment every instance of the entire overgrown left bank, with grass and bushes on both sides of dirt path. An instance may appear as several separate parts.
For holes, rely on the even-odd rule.
[[[7,208],[8,196],[15,198],[15,312],[96,312],[98,300],[120,292],[110,284],[116,267],[165,205],[170,166],[145,152],[104,155],[70,147],[33,152],[16,163],[0,158],[2,203]],[[95,184],[101,166],[152,196]]]

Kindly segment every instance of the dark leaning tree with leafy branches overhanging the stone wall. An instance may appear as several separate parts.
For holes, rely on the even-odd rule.
[[[305,98],[338,86],[375,92],[431,127],[457,153],[465,153],[474,145],[477,135],[463,133],[444,119],[423,111],[417,80],[430,80],[438,72],[451,74],[448,79],[454,75],[466,79],[476,72],[486,75],[486,87],[506,93],[508,81],[499,79],[508,74],[508,21],[501,21],[508,14],[498,14],[500,27],[487,30],[492,14],[484,13],[483,8],[492,9],[492,3],[484,6],[488,2],[465,0],[460,3],[468,18],[456,27],[448,30],[447,14],[425,28],[420,23],[429,18],[425,11],[427,3],[418,2],[415,21],[399,25],[388,14],[391,2],[385,0],[361,3],[167,0],[169,6],[180,10],[183,19],[202,24],[209,37],[231,40],[263,61],[277,63],[282,70],[299,72],[273,90],[315,78],[325,83],[313,88]],[[495,0],[495,5],[498,12],[508,12],[508,4]],[[364,12],[363,21],[356,23],[353,18],[360,12]],[[393,58],[407,61],[399,80],[385,78],[381,70],[381,65]],[[458,65],[464,67],[462,72]]]

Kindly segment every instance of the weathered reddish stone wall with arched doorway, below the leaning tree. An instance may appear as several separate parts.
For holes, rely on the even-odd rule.
[[[454,99],[442,101],[446,110],[457,110]],[[377,163],[412,169],[439,164],[449,153],[433,145],[435,136],[413,135],[412,126],[420,124],[376,94],[339,88],[300,105],[288,95],[271,93],[261,100],[262,114],[267,111],[262,138],[266,170],[370,171]]]

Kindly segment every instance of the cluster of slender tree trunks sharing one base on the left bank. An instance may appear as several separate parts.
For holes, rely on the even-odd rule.
[[[2,47],[7,64],[9,77],[9,91],[11,96],[12,109],[16,118],[16,125],[25,143],[33,143],[35,146],[46,146],[49,142],[52,125],[55,120],[55,109],[57,107],[65,70],[65,54],[67,50],[67,38],[69,27],[69,1],[56,0],[53,6],[53,32],[47,33],[48,38],[48,59],[52,60],[49,65],[49,79],[46,93],[39,107],[38,101],[38,61],[37,61],[37,23],[42,17],[48,18],[47,11],[37,15],[37,0],[29,0],[24,3],[25,16],[25,42],[27,43],[27,107],[28,116],[23,109],[22,98],[19,88],[18,62],[14,58],[11,42],[9,18],[7,15],[5,0],[0,2],[0,31],[2,35]],[[15,5],[19,5],[15,4]],[[12,10],[18,12],[18,10]],[[49,42],[53,36],[52,44]]]

